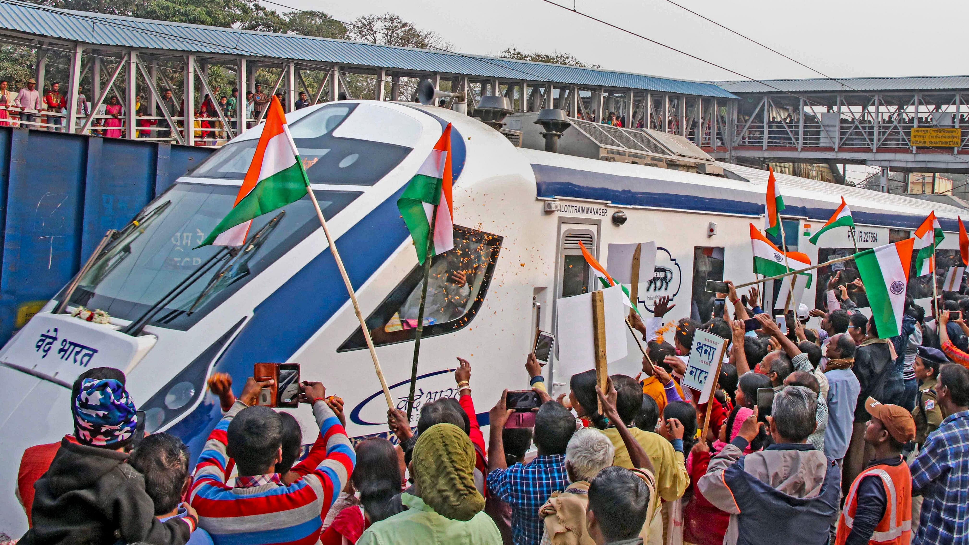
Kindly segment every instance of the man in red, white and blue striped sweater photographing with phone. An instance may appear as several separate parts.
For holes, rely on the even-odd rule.
[[[195,466],[190,502],[216,543],[227,538],[262,540],[267,529],[281,540],[292,541],[287,535],[317,540],[320,514],[328,511],[356,465],[350,438],[327,404],[326,387],[303,381],[298,401],[312,406],[320,426],[307,458],[320,462],[297,482],[285,485],[275,472],[282,459],[283,425],[274,410],[257,404],[272,382],[249,377],[238,401],[209,434]],[[238,472],[234,486],[228,484],[225,469],[230,460]]]

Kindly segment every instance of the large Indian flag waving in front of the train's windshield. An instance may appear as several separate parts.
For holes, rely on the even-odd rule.
[[[212,229],[199,246],[240,246],[245,243],[252,220],[283,208],[306,196],[309,180],[299,160],[297,144],[290,136],[279,99],[272,97],[266,126],[249,164],[233,209]]]

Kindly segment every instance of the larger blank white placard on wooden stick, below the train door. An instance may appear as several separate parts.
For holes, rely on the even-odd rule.
[[[606,318],[606,362],[621,360],[628,354],[626,345],[626,313],[628,307],[619,285],[603,291],[603,311]],[[572,375],[595,369],[595,344],[592,331],[592,294],[565,297],[555,302],[558,346],[558,379],[567,381]]]

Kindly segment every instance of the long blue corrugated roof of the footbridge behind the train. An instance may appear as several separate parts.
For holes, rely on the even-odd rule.
[[[730,92],[706,81],[671,80],[628,72],[447,51],[395,48],[295,34],[74,12],[15,0],[0,0],[0,28],[99,46],[251,55],[501,80],[545,81],[736,98]]]

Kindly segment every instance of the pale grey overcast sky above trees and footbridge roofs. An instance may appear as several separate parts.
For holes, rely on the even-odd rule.
[[[554,0],[755,79],[820,78],[666,0]],[[923,0],[676,0],[831,77],[963,75],[969,2]],[[689,80],[742,78],[542,0],[280,0],[343,20],[391,12],[431,29],[459,52],[568,52],[587,64]],[[272,7],[272,6],[270,6]],[[278,8],[277,8],[278,9]],[[285,11],[285,10],[284,10]],[[913,22],[919,22],[913,24]],[[947,21],[953,24],[946,29]]]

